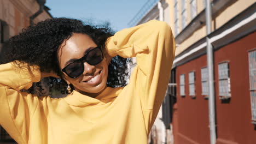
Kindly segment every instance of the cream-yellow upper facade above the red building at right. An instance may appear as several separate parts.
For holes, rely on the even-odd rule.
[[[255,0],[212,0],[212,31],[255,3]],[[173,34],[176,37],[176,56],[206,37],[205,0],[168,0]],[[183,26],[184,25],[184,26]],[[193,27],[193,30],[189,30]]]

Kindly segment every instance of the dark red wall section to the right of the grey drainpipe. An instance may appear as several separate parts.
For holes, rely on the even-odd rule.
[[[215,52],[214,77],[216,81],[217,143],[219,144],[256,143],[256,130],[251,121],[248,65],[248,50],[255,49],[255,38],[254,32]],[[229,62],[231,83],[229,103],[219,99],[218,63],[224,61]]]

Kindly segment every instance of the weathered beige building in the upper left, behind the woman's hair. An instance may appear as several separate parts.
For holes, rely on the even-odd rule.
[[[6,40],[19,34],[22,28],[30,26],[30,16],[37,13],[40,8],[38,2],[39,0],[0,0],[0,53],[4,51],[1,48]],[[37,23],[51,18],[52,16],[48,10],[48,7],[44,7],[43,13],[39,14],[32,21]],[[3,55],[0,54],[0,61],[2,58]]]

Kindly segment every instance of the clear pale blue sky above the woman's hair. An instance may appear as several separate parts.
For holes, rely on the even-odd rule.
[[[129,21],[148,0],[46,0],[54,17],[69,17],[103,23],[109,21],[114,31],[127,28]]]

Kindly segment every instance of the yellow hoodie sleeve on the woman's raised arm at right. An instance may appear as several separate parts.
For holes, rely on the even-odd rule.
[[[106,49],[112,57],[136,57],[137,66],[128,86],[141,97],[142,109],[151,110],[149,115],[155,117],[165,97],[174,59],[175,43],[170,26],[152,20],[123,29],[108,39]]]

